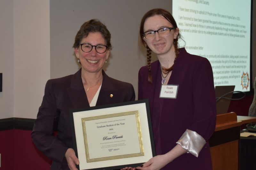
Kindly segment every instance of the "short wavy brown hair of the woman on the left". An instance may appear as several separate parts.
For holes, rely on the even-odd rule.
[[[99,32],[107,42],[108,50],[112,49],[110,39],[111,34],[108,31],[108,28],[102,24],[98,19],[91,19],[85,22],[79,29],[75,37],[75,43],[73,48],[79,48],[80,43],[83,38],[87,37],[89,33],[96,33]]]

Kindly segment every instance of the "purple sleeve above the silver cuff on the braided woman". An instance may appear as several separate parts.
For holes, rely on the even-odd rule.
[[[195,66],[192,90],[194,116],[189,129],[208,141],[215,129],[216,102],[212,67],[207,59],[200,60]]]

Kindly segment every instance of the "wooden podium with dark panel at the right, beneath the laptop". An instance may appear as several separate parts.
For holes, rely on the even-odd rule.
[[[256,122],[256,117],[235,112],[217,115],[209,140],[213,170],[240,170],[240,126],[250,122]]]

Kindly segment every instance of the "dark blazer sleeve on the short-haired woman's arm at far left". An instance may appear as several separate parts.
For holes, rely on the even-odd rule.
[[[31,137],[41,152],[53,161],[61,163],[68,147],[54,136],[57,118],[58,110],[54,90],[51,80],[48,80]]]

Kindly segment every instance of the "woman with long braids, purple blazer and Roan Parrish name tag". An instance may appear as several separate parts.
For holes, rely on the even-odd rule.
[[[140,41],[148,65],[139,71],[138,99],[149,99],[156,155],[137,169],[211,170],[209,138],[216,104],[210,62],[179,48],[180,31],[171,13],[148,11]],[[158,58],[151,63],[151,52]]]

